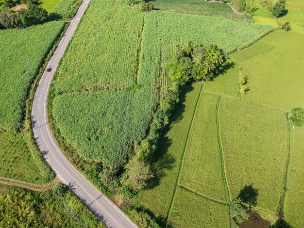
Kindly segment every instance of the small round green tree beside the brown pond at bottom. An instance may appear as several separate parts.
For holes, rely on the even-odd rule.
[[[235,198],[229,204],[230,214],[237,224],[249,219],[249,205],[244,203],[240,198]]]

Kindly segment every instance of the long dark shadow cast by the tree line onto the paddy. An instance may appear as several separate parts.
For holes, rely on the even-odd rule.
[[[145,189],[152,189],[159,185],[160,180],[165,177],[165,170],[173,168],[175,158],[168,153],[169,147],[173,143],[172,140],[167,136],[167,133],[172,128],[173,124],[178,123],[184,117],[185,112],[185,97],[186,94],[193,90],[192,85],[187,85],[180,96],[180,102],[175,106],[175,109],[170,116],[170,124],[161,132],[160,139],[158,141],[157,150],[151,158],[151,170],[154,175],[153,178],[149,179]],[[183,131],[183,129],[181,129]]]

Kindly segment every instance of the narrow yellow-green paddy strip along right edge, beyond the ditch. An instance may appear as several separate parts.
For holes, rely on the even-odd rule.
[[[286,220],[297,228],[304,224],[304,127],[293,130],[293,151],[291,155],[291,182],[285,200]]]

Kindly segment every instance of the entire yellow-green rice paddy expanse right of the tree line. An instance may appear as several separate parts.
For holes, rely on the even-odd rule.
[[[283,210],[286,226],[302,226],[304,167],[301,164],[304,161],[299,151],[303,150],[303,127],[293,130],[291,139],[286,118],[292,107],[304,105],[302,97],[298,96],[304,84],[301,83],[303,58],[297,54],[303,49],[302,40],[300,33],[277,30],[253,46],[227,57],[227,66],[219,76],[214,81],[204,82],[203,91],[195,95],[197,108],[185,109],[180,114],[181,120],[193,114],[192,123],[188,123],[186,129],[174,123],[178,118],[176,110],[169,131],[161,138],[161,142],[169,138],[169,143],[160,144],[161,149],[152,158],[152,165],[165,164],[166,152],[171,151],[170,157],[179,156],[179,159],[172,159],[170,165],[179,164],[180,171],[168,169],[166,175],[159,175],[157,185],[151,185],[139,195],[140,204],[168,226],[195,227],[208,221],[206,227],[223,227],[230,226],[229,212],[222,218],[213,215],[221,225],[204,218],[203,214],[197,214],[195,218],[191,214],[199,213],[206,201],[214,204],[214,208],[222,207],[217,210],[224,215],[226,203],[239,196],[270,219],[271,224],[276,222],[276,214]],[[248,78],[250,90],[244,95],[238,94],[238,69]],[[272,81],[268,83],[270,78]],[[283,79],[285,83],[281,82]],[[192,97],[194,92],[192,90],[186,96]],[[186,135],[185,132],[186,138],[179,137]],[[290,140],[293,143],[290,144]],[[181,156],[174,148],[183,144],[184,155]],[[172,181],[174,175],[177,181]],[[217,188],[212,189],[214,186]],[[191,203],[194,198],[202,200],[196,207]],[[161,206],[155,202],[161,202]],[[210,208],[202,211],[213,213]],[[198,219],[200,217],[202,220]]]

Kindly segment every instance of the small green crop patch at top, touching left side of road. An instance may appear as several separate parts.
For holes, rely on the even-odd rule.
[[[60,0],[58,4],[52,8],[50,18],[72,18],[76,14],[81,3],[82,0]]]

